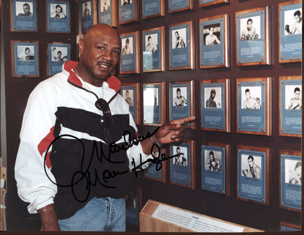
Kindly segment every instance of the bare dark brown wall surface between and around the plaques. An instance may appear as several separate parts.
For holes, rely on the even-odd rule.
[[[29,215],[26,204],[18,195],[16,181],[14,179],[14,165],[19,145],[19,133],[21,129],[22,116],[27,98],[33,88],[46,79],[47,74],[47,43],[63,42],[71,44],[71,59],[76,60],[76,36],[78,18],[76,15],[77,2],[70,1],[71,33],[46,33],[46,1],[37,2],[38,32],[11,32],[10,31],[10,0],[2,1],[2,42],[5,45],[5,84],[6,84],[6,121],[7,121],[7,164],[8,164],[8,230],[36,230],[40,229],[40,220],[37,215]],[[117,2],[119,2],[117,0]],[[142,61],[140,60],[140,74],[119,75],[122,83],[140,83],[141,97],[142,84],[151,82],[163,82],[167,84],[166,100],[169,100],[169,82],[195,81],[195,109],[197,122],[195,130],[187,130],[185,139],[196,141],[196,189],[187,189],[169,183],[169,166],[167,169],[167,183],[161,183],[149,179],[141,179],[143,205],[148,199],[170,204],[186,210],[191,210],[204,215],[216,217],[241,225],[254,227],[266,231],[278,231],[280,221],[292,224],[300,224],[300,213],[279,208],[279,150],[301,150],[300,138],[279,136],[279,76],[300,75],[301,64],[279,64],[278,62],[278,4],[282,0],[231,0],[231,3],[199,8],[195,1],[195,9],[168,14],[168,1],[165,1],[165,16],[142,20],[139,22],[119,25],[117,31],[121,33],[140,32],[140,55],[142,53],[142,30],[159,26],[165,26],[166,41],[169,38],[168,25],[193,20],[195,30],[195,69],[169,71],[168,45],[166,45],[166,72],[142,72]],[[271,33],[271,57],[272,64],[265,66],[236,67],[235,48],[235,12],[252,8],[271,6],[270,33]],[[119,12],[119,11],[118,11]],[[199,68],[199,20],[201,18],[216,16],[220,14],[230,15],[230,68],[200,69]],[[139,1],[139,15],[141,16],[141,1]],[[117,15],[119,19],[119,14]],[[11,40],[39,41],[40,77],[12,78],[11,77]],[[272,77],[272,136],[257,136],[236,133],[236,79],[246,77]],[[219,133],[200,130],[200,81],[210,79],[231,80],[231,133]],[[167,102],[168,103],[168,102]],[[141,104],[142,105],[142,104]],[[142,110],[142,107],[141,107]],[[169,121],[169,111],[166,111]],[[143,120],[141,120],[143,123]],[[139,133],[152,132],[155,128],[139,126]],[[200,142],[218,142],[231,144],[231,197],[218,195],[204,191],[201,188],[201,156]],[[270,183],[270,206],[237,200],[237,145],[248,145],[257,147],[269,147],[272,151]],[[136,228],[132,228],[136,229]]]

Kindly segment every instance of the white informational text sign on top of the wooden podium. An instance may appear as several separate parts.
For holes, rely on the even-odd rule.
[[[159,205],[152,217],[198,232],[242,232],[244,227],[210,219],[166,205]]]

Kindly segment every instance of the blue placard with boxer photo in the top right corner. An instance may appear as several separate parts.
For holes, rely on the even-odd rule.
[[[280,7],[280,60],[302,58],[302,4]]]

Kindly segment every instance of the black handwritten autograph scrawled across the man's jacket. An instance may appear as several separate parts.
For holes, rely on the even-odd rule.
[[[45,173],[47,175],[47,177],[49,178],[49,180],[54,183],[55,185],[57,186],[60,186],[60,187],[70,187],[71,188],[71,191],[72,191],[72,194],[73,194],[73,197],[79,201],[79,202],[85,202],[88,200],[89,198],[89,195],[90,195],[90,190],[91,190],[91,186],[94,187],[97,185],[97,183],[99,183],[100,185],[106,187],[106,188],[115,188],[115,186],[110,186],[110,185],[107,185],[106,183],[108,182],[108,180],[110,178],[115,178],[116,176],[118,175],[122,175],[122,174],[127,174],[129,172],[129,170],[127,171],[108,171],[108,170],[104,170],[101,175],[100,175],[100,172],[97,171],[97,169],[95,168],[94,169],[94,176],[95,176],[95,180],[92,180],[93,177],[91,177],[91,174],[89,172],[89,168],[92,164],[92,161],[93,161],[93,156],[94,154],[97,156],[97,159],[98,161],[101,163],[102,160],[105,160],[109,163],[112,163],[112,164],[121,164],[121,163],[124,163],[124,162],[116,162],[116,161],[112,161],[110,160],[110,157],[111,157],[111,153],[115,153],[115,152],[119,152],[120,150],[128,150],[130,147],[132,147],[133,145],[138,145],[141,141],[143,141],[144,139],[147,139],[147,138],[150,138],[151,136],[153,136],[156,132],[157,132],[158,128],[152,133],[150,134],[149,132],[147,132],[146,136],[138,136],[137,138],[136,137],[133,137],[131,138],[130,137],[130,133],[128,131],[125,131],[124,132],[124,144],[122,144],[121,146],[118,146],[116,143],[110,143],[109,144],[109,153],[108,155],[106,156],[103,152],[103,149],[102,149],[102,142],[100,141],[100,154],[98,153],[98,149],[97,149],[97,141],[94,140],[94,143],[93,143],[93,148],[92,148],[92,153],[91,153],[91,156],[90,156],[90,161],[89,161],[89,164],[87,165],[86,168],[84,168],[84,161],[85,161],[85,145],[84,143],[82,142],[81,139],[75,137],[75,136],[72,136],[72,135],[68,135],[68,134],[64,134],[64,135],[60,135],[58,137],[56,137],[49,145],[48,149],[46,150],[46,153],[45,153],[45,158],[44,158],[44,169],[45,169]],[[129,136],[129,138],[127,139],[127,136]],[[74,138],[75,140],[79,141],[81,144],[82,144],[82,148],[83,148],[83,152],[82,152],[82,162],[81,162],[81,167],[80,167],[80,170],[78,171],[75,171],[71,177],[71,181],[69,184],[59,184],[57,182],[54,182],[51,177],[48,175],[48,171],[47,171],[47,168],[46,168],[46,161],[47,161],[47,153],[49,152],[49,149],[50,147],[60,138],[63,138],[63,137],[71,137],[71,138]],[[135,166],[135,160],[134,158],[132,158],[132,166],[134,166],[133,169],[131,169],[131,171],[134,171],[135,172],[135,176],[137,177],[137,172],[136,170],[141,170],[143,171],[142,169],[142,166],[146,163],[155,163],[156,164],[156,170],[159,171],[162,169],[162,162],[163,161],[166,161],[166,160],[169,160],[171,158],[174,158],[175,156],[178,156],[180,155],[181,153],[178,153],[178,154],[175,154],[173,156],[169,156],[168,158],[166,158],[166,155],[163,153],[161,156],[155,156],[154,154],[154,151],[155,150],[155,147],[158,148],[158,152],[160,152],[160,148],[156,145],[156,144],[153,144],[153,146],[151,147],[151,155],[153,156],[153,159],[148,159],[147,161],[145,162],[142,162],[142,156],[140,154],[140,164],[138,166]],[[75,194],[75,191],[74,191],[74,186],[78,183],[80,183],[81,181],[83,181],[86,183],[86,190],[87,190],[87,194],[86,194],[86,197],[85,199],[80,199],[78,198],[78,196]]]

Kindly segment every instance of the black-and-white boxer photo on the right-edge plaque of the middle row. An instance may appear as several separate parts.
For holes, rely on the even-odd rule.
[[[302,109],[301,90],[298,85],[285,86],[285,109]]]

